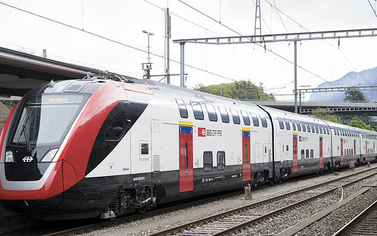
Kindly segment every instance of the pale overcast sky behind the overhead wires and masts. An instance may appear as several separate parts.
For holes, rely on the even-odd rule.
[[[182,0],[242,35],[254,34],[255,0]],[[376,1],[370,0],[376,4]],[[151,52],[164,55],[164,11],[170,8],[172,39],[211,36],[237,36],[234,32],[189,8],[178,0],[125,1],[10,1],[0,2],[43,15],[85,31],[105,36],[125,45],[146,50],[147,36],[142,29],[153,32]],[[305,32],[305,29],[280,16],[270,4],[261,0],[262,34]],[[156,6],[153,6],[156,5]],[[310,31],[377,28],[377,18],[367,0],[275,0],[275,6]],[[281,19],[280,19],[281,18]],[[284,25],[283,25],[284,23]],[[107,69],[142,78],[141,63],[146,53],[85,32],[50,22],[34,15],[0,4],[0,46],[41,55],[63,62]],[[270,43],[266,47],[293,62],[293,43]],[[170,43],[170,59],[179,61],[179,45]],[[186,44],[185,63],[210,71],[214,76],[186,67],[186,85],[230,83],[232,80],[263,82],[268,92],[292,93],[294,67],[289,62],[252,44],[209,46]],[[151,56],[151,74],[164,74],[164,60]],[[170,62],[171,73],[179,74],[179,64]],[[377,37],[361,39],[303,41],[298,43],[298,64],[308,69],[298,71],[299,86],[313,88],[324,80],[333,81],[349,71],[377,67]],[[153,78],[158,80],[159,78]],[[179,76],[172,77],[179,85]],[[357,81],[355,81],[357,84]],[[278,88],[278,89],[276,89]],[[293,97],[277,97],[292,99]],[[308,98],[308,97],[306,97]]]

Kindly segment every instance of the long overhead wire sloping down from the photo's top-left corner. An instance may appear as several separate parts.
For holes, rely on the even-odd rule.
[[[16,7],[16,6],[9,5],[9,4],[6,4],[6,3],[1,2],[1,1],[0,1],[0,4],[2,4],[2,5],[4,5],[4,6],[8,6],[8,7],[10,7],[10,8],[14,8],[14,9],[16,9],[16,10],[18,10],[18,11],[22,11],[22,12],[24,12],[24,13],[28,13],[29,15],[34,15],[34,16],[39,17],[39,18],[42,18],[42,19],[44,19],[44,20],[49,20],[49,21],[51,21],[51,22],[55,22],[55,23],[57,23],[58,25],[63,25],[63,26],[65,26],[65,27],[69,27],[69,28],[71,28],[71,29],[75,29],[75,30],[78,30],[78,31],[80,31],[80,32],[84,32],[84,33],[86,33],[86,34],[90,34],[90,35],[92,35],[92,36],[96,36],[96,37],[98,37],[98,38],[100,38],[100,39],[104,39],[104,40],[107,40],[107,41],[111,41],[112,43],[116,43],[116,44],[119,44],[119,45],[121,45],[121,46],[125,46],[125,47],[127,47],[127,48],[131,48],[131,49],[133,49],[133,50],[140,51],[140,52],[142,52],[142,53],[148,53],[146,50],[142,50],[142,49],[137,48],[137,47],[135,47],[135,46],[130,46],[130,45],[126,44],[126,43],[122,43],[122,42],[120,42],[120,41],[116,41],[116,40],[114,40],[114,39],[110,39],[110,38],[108,38],[107,36],[102,36],[102,35],[100,35],[100,34],[95,34],[95,33],[93,33],[93,32],[89,32],[89,31],[87,31],[87,30],[85,30],[85,29],[79,29],[78,27],[74,27],[74,26],[72,26],[72,25],[68,25],[68,24],[63,23],[63,22],[60,22],[60,21],[58,21],[58,20],[53,20],[53,19],[51,19],[51,18],[47,18],[47,17],[45,17],[45,16],[43,16],[43,15],[39,15],[39,14],[36,14],[36,13],[32,13],[31,11],[26,11],[26,10],[24,10],[24,9],[22,9],[22,8],[18,8],[18,7]],[[150,55],[153,55],[153,56],[156,56],[156,57],[164,58],[162,55],[158,55],[158,54],[156,54],[156,53],[149,53],[149,54],[150,54]],[[171,61],[171,62],[174,62],[174,63],[177,63],[177,64],[181,64],[181,62],[178,62],[177,60],[172,60],[172,59],[170,59],[170,61]],[[230,80],[230,81],[235,81],[235,79],[233,79],[233,78],[228,78],[228,77],[226,77],[226,76],[222,76],[222,75],[217,74],[217,73],[214,73],[214,72],[212,72],[212,71],[207,71],[207,70],[205,70],[205,69],[201,69],[201,68],[199,68],[199,67],[194,67],[194,66],[191,66],[190,64],[184,64],[184,65],[185,65],[186,67],[190,67],[190,68],[192,68],[192,69],[196,69],[196,70],[198,70],[198,71],[203,71],[203,72],[205,72],[205,73],[207,73],[207,74],[212,74],[213,76],[218,76],[218,77],[220,77],[220,78],[225,78],[225,79]]]

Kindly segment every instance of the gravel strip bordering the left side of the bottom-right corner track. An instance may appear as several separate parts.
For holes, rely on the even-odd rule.
[[[327,217],[316,221],[309,227],[297,232],[295,236],[305,236],[305,235],[333,235],[334,232],[338,231],[343,227],[348,221],[357,216],[366,207],[368,207],[372,202],[377,199],[377,189],[371,188],[363,195],[355,198],[343,207],[336,209],[336,211],[327,215]],[[315,232],[315,234],[313,234]]]

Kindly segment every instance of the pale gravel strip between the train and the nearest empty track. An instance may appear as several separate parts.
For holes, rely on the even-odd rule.
[[[377,164],[371,165],[371,167],[376,166]],[[199,218],[204,218],[206,216],[218,214],[222,211],[234,209],[236,207],[242,207],[252,202],[257,202],[276,195],[281,195],[282,193],[288,193],[292,192],[293,190],[306,188],[308,186],[321,183],[323,181],[328,181],[330,179],[336,179],[340,176],[344,176],[352,172],[355,172],[356,170],[359,171],[362,169],[366,169],[366,167],[348,169],[343,172],[339,172],[337,175],[326,174],[323,176],[317,176],[310,179],[303,179],[294,182],[283,182],[275,186],[269,186],[266,188],[253,190],[252,200],[245,200],[243,195],[237,195],[233,197],[228,197],[226,199],[217,200],[214,202],[200,204],[194,207],[187,207],[185,209],[179,209],[177,211],[170,211],[168,213],[153,216],[151,218],[143,218],[138,221],[111,225],[107,228],[102,228],[100,230],[85,233],[84,235],[148,235],[149,233],[155,232],[157,230],[171,228],[182,223],[187,223],[189,221],[194,221]],[[282,218],[282,220],[285,220],[285,217]]]

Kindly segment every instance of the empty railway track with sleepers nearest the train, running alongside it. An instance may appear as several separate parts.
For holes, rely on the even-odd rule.
[[[221,214],[178,225],[167,230],[154,232],[149,236],[227,235],[231,232],[242,230],[243,228],[270,216],[275,216],[283,211],[299,207],[302,204],[307,204],[319,197],[333,193],[334,190],[337,190],[339,187],[344,188],[345,186],[350,186],[376,174],[376,168],[366,169],[362,172],[357,172],[315,186],[272,197],[268,200],[249,204],[245,207],[239,207],[237,209],[222,212]]]

